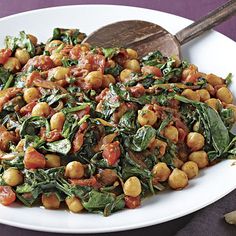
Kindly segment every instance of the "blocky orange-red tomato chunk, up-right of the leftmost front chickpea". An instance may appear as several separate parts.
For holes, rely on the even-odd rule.
[[[46,159],[43,154],[36,151],[33,147],[28,147],[25,151],[24,164],[26,169],[44,168]]]

